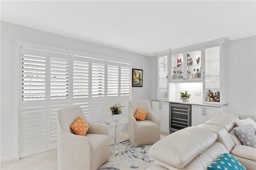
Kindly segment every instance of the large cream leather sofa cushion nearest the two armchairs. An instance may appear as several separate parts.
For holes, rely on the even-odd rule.
[[[150,156],[181,169],[210,147],[216,139],[217,135],[212,131],[200,127],[187,127],[152,145]]]

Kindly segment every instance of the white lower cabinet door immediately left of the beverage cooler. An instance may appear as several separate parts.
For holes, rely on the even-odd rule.
[[[169,103],[162,102],[160,104],[161,108],[161,131],[169,132]]]

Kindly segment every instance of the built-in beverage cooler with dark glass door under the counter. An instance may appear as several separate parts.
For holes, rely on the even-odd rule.
[[[191,105],[170,103],[169,107],[170,133],[191,126]]]

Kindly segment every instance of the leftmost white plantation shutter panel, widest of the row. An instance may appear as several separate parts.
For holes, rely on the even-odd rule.
[[[20,48],[20,156],[47,150],[47,52]]]

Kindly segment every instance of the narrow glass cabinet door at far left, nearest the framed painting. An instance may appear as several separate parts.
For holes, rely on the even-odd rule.
[[[168,55],[158,57],[158,99],[168,100]]]

